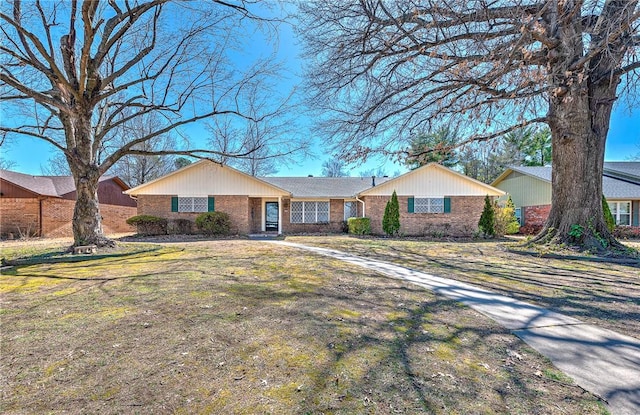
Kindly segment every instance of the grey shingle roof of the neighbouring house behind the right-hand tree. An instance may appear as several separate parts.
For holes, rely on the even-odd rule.
[[[640,199],[640,162],[606,162],[602,192],[607,199]],[[551,183],[551,167],[512,166],[511,170]],[[620,175],[619,173],[622,173]],[[637,176],[638,181],[627,180]],[[626,177],[627,179],[623,179]]]

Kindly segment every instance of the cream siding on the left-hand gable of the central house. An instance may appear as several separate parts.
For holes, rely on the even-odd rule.
[[[132,195],[178,195],[178,196],[285,196],[279,190],[256,178],[230,167],[202,161],[174,174],[143,184],[127,193]]]

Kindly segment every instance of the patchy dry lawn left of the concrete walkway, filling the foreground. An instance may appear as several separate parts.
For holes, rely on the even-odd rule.
[[[2,413],[606,413],[473,310],[336,260],[239,240],[28,249],[49,262],[0,276]]]

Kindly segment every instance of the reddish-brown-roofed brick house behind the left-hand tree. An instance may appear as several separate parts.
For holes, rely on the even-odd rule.
[[[102,176],[98,200],[105,233],[131,232],[126,219],[136,214],[129,189],[115,176]],[[71,221],[76,199],[71,176],[32,176],[0,170],[0,235],[73,236]]]

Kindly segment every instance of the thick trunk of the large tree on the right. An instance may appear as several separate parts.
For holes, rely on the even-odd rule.
[[[612,60],[571,69],[582,56],[580,28],[566,26],[553,51],[549,82],[552,136],[551,211],[534,242],[578,245],[604,252],[622,248],[610,234],[602,211],[604,149],[619,76]],[[574,30],[574,33],[571,31]]]

